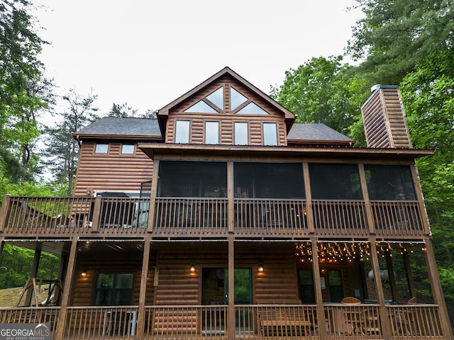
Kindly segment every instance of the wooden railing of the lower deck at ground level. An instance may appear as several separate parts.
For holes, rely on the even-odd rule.
[[[57,340],[58,322],[64,322],[62,339],[445,339],[437,305],[389,305],[380,315],[379,305],[236,305],[234,327],[228,324],[227,305],[145,306],[144,327],[138,329],[137,306],[0,308],[0,323],[47,323]],[[385,324],[382,324],[385,323]]]

